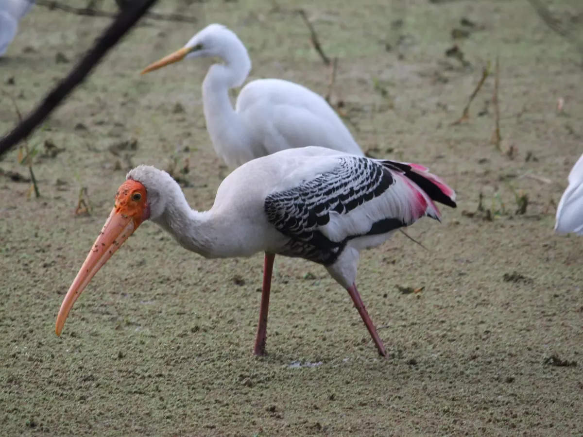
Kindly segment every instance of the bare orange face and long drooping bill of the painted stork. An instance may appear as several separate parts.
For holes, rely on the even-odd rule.
[[[55,332],[58,336],[61,335],[73,304],[94,274],[134,233],[142,221],[149,217],[150,208],[147,203],[145,186],[138,181],[128,179],[118,189],[115,195],[115,206],[63,299],[55,326]]]

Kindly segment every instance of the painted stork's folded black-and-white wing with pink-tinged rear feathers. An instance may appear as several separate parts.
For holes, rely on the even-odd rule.
[[[420,165],[342,156],[332,170],[269,194],[264,208],[290,238],[282,255],[331,265],[351,239],[387,234],[423,215],[439,220],[434,195],[455,207],[454,192]]]

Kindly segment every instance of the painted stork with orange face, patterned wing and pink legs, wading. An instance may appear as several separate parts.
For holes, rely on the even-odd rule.
[[[378,353],[386,356],[356,288],[359,251],[380,245],[422,216],[440,220],[435,202],[455,207],[455,193],[417,164],[339,153],[322,147],[287,149],[241,165],[205,212],[191,209],[166,172],[140,165],[115,195],[99,237],[59,309],[60,335],[76,299],[143,220],[152,220],[184,248],[205,258],[265,252],[254,353],[265,354],[275,254],[324,265],[346,288]]]

